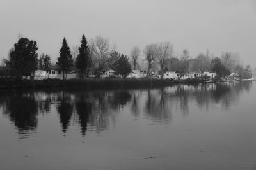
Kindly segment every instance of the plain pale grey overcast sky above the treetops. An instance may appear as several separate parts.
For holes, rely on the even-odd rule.
[[[170,41],[176,53],[191,57],[209,49],[215,57],[239,52],[244,64],[256,66],[256,1],[253,0],[1,0],[0,58],[18,34],[35,40],[38,53],[55,62],[63,37],[70,48],[97,35],[108,37],[116,50]],[[144,57],[141,53],[141,57]]]

